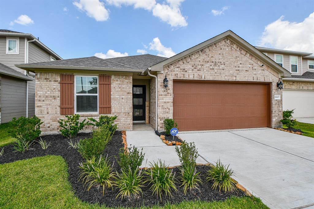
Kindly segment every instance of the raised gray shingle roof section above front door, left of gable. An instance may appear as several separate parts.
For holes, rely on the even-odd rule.
[[[114,58],[108,58],[105,60],[118,62],[121,64],[132,66],[136,69],[144,70],[166,59],[168,58],[162,57],[162,56],[151,55],[151,54],[143,54],[143,55],[134,55],[134,56],[114,57]]]

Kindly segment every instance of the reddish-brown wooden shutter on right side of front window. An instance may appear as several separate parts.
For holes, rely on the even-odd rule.
[[[111,76],[99,75],[99,114],[111,114]]]

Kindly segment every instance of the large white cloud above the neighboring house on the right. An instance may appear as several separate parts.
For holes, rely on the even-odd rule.
[[[260,46],[314,53],[314,12],[303,22],[290,22],[281,16],[265,27]]]

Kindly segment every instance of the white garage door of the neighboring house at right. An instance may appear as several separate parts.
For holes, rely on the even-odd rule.
[[[293,117],[314,117],[314,91],[289,90],[282,92],[283,110],[295,109]]]

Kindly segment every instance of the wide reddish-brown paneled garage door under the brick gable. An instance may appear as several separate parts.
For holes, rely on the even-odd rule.
[[[269,127],[269,84],[174,81],[180,131]]]

